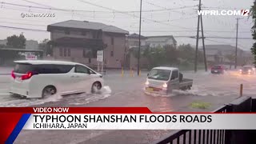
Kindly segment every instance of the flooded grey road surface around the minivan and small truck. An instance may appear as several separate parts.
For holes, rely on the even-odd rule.
[[[1,71],[0,71],[1,72]],[[77,94],[46,99],[21,99],[8,93],[10,76],[0,75],[0,106],[146,106],[154,112],[202,111],[190,108],[194,101],[209,102],[211,111],[239,96],[239,86],[244,95],[254,96],[256,75],[240,75],[235,71],[213,75],[203,71],[197,74],[184,72],[184,78],[194,79],[189,91],[174,91],[168,96],[147,95],[143,92],[146,72],[138,77],[124,77],[118,70],[104,75],[106,86],[102,94]],[[171,130],[23,130],[16,143],[149,143],[165,136]]]

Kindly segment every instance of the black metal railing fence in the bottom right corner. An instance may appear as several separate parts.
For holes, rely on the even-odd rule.
[[[239,101],[239,100],[238,100]],[[246,108],[250,106],[250,110]],[[238,111],[234,111],[238,110]],[[256,99],[243,98],[241,102],[237,104],[229,104],[214,110],[214,113],[228,113],[228,112],[256,112]],[[243,143],[248,143],[244,140],[246,137],[248,141],[256,143],[254,139],[254,131],[246,130],[248,134],[243,134],[241,138],[234,138],[234,133],[241,131],[235,130],[177,130],[165,138],[159,139],[157,144],[233,144],[239,143],[238,140],[242,140]],[[245,131],[242,131],[245,133]],[[238,134],[236,134],[238,135]],[[246,136],[245,136],[246,135]],[[250,140],[249,140],[250,139]],[[237,141],[237,142],[235,142]],[[240,142],[241,143],[241,142]]]

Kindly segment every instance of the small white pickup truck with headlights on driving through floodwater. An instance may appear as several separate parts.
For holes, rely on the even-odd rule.
[[[172,90],[190,90],[193,84],[192,79],[182,78],[178,68],[155,67],[146,78],[146,92],[168,94]]]

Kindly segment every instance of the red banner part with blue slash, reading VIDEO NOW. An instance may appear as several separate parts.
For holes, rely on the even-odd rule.
[[[0,143],[12,143],[31,114],[150,114],[147,108],[0,107]],[[22,126],[23,125],[23,126]],[[7,141],[8,138],[8,141]]]

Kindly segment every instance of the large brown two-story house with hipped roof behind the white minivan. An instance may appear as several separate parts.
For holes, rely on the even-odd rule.
[[[107,68],[120,68],[125,57],[128,31],[100,22],[69,20],[47,26],[49,45],[58,60],[97,66],[97,50],[104,50]]]

